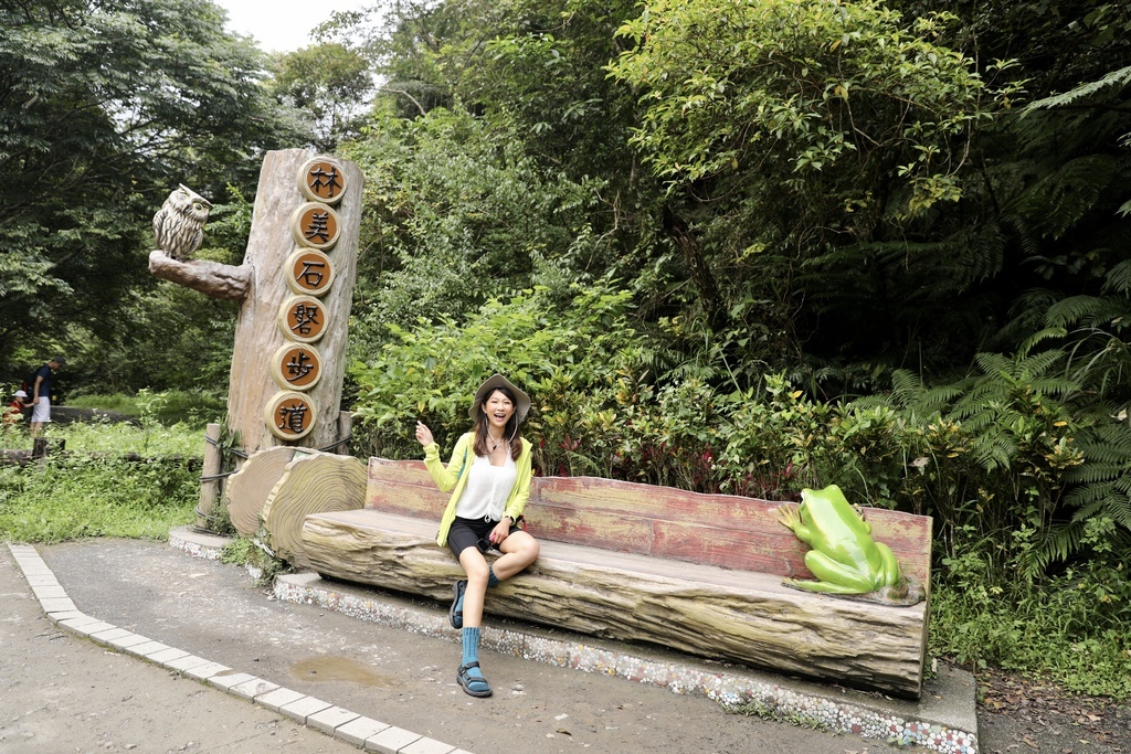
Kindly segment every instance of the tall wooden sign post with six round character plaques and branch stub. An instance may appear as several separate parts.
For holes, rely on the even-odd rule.
[[[333,449],[343,439],[363,181],[347,161],[269,151],[241,266],[149,254],[155,277],[241,302],[227,424],[245,456],[284,444]]]

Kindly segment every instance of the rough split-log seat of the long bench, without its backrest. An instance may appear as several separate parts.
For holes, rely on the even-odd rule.
[[[320,573],[446,601],[463,572],[434,529],[366,509],[308,515],[302,539]],[[922,685],[926,603],[843,600],[765,573],[543,541],[533,566],[489,592],[486,609],[905,696]]]

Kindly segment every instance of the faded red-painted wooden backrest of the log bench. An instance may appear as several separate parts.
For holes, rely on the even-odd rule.
[[[366,508],[439,522],[448,497],[421,461],[370,459]],[[595,477],[535,477],[526,527],[539,539],[811,579],[809,547],[778,523],[780,504]],[[931,518],[871,508],[864,517],[904,572],[930,583]]]

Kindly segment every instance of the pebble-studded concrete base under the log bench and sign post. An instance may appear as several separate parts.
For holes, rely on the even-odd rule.
[[[216,560],[230,540],[174,529],[170,544],[196,557]],[[444,609],[398,603],[359,584],[321,579],[317,573],[278,577],[280,600],[322,609],[412,633],[455,641]],[[513,625],[513,624],[511,624]],[[625,681],[666,687],[676,694],[707,696],[724,708],[741,708],[759,717],[800,722],[897,746],[922,746],[943,754],[976,754],[977,714],[974,677],[946,667],[929,682],[918,702],[852,690],[821,686],[756,671],[719,669],[683,655],[641,653],[588,636],[521,629],[484,627],[483,647],[493,651]]]

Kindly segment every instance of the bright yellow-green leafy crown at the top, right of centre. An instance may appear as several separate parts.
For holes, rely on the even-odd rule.
[[[818,173],[823,223],[866,236],[877,208],[957,199],[964,141],[988,116],[973,61],[932,42],[939,20],[871,2],[656,2],[622,28],[637,46],[612,72],[641,90],[633,140],[665,179],[732,173],[808,206]]]

